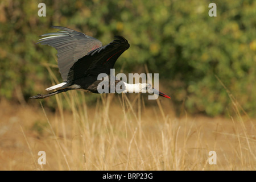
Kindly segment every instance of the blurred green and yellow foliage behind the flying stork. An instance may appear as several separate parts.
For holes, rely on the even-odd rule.
[[[46,17],[38,3],[46,3]],[[122,35],[130,43],[116,63],[125,71],[147,65],[177,108],[224,114],[230,99],[215,75],[243,109],[256,109],[256,2],[216,1],[3,1],[0,3],[0,95],[25,100],[51,86],[44,67],[56,64],[56,50],[36,45],[39,35],[66,26],[109,43]],[[135,66],[136,65],[136,66]],[[57,68],[52,68],[61,81]],[[21,88],[21,89],[19,89]],[[49,102],[49,101],[48,101]],[[51,105],[51,104],[49,104]],[[179,109],[178,109],[179,110]]]

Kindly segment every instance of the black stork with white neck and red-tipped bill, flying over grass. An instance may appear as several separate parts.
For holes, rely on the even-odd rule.
[[[49,45],[57,50],[58,67],[63,82],[46,89],[47,91],[55,90],[54,92],[46,95],[38,94],[30,98],[46,98],[75,89],[98,93],[97,87],[102,81],[97,79],[98,75],[100,73],[110,75],[110,69],[114,67],[115,61],[130,47],[128,41],[122,36],[115,36],[112,42],[102,46],[100,40],[70,28],[60,26],[52,26],[52,28],[60,31],[41,35],[46,37],[39,39],[38,44]],[[124,93],[131,90],[142,93],[147,90],[147,92],[170,98],[147,83],[127,84],[121,80],[115,80],[115,85],[118,82],[123,83]]]

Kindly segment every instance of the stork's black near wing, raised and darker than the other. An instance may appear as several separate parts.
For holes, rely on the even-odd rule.
[[[76,80],[88,75],[98,76],[100,73],[110,74],[115,61],[130,47],[122,36],[115,36],[115,40],[106,46],[94,49],[79,59],[68,73],[68,81]]]

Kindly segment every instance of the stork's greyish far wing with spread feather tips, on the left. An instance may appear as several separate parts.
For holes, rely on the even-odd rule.
[[[61,31],[41,35],[47,37],[39,39],[38,44],[49,45],[57,50],[60,74],[63,80],[67,81],[69,69],[73,64],[88,52],[101,47],[102,43],[70,28],[60,26],[52,26],[52,28]]]

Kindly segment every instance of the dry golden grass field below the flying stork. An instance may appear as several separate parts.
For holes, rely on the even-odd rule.
[[[82,101],[77,96],[82,96]],[[1,170],[255,170],[255,120],[234,101],[228,118],[176,117],[171,100],[145,106],[141,94],[102,94],[94,106],[71,91],[55,113],[28,104],[0,102]],[[232,98],[230,98],[232,99]],[[63,100],[70,110],[64,111]],[[39,151],[46,165],[39,165]],[[209,164],[216,151],[217,164]]]

